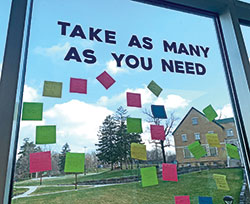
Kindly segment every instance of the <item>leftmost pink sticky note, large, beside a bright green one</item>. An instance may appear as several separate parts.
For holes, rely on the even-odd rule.
[[[50,151],[30,154],[30,173],[49,170],[51,170]]]

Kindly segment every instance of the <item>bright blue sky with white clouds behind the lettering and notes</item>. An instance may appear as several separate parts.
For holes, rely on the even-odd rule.
[[[4,4],[3,13],[6,14],[0,24],[4,30],[9,5],[7,2],[1,4]],[[60,35],[58,21],[71,23],[66,36]],[[117,44],[71,38],[69,33],[76,24],[82,26],[87,36],[89,27],[116,31]],[[128,47],[132,35],[137,35],[139,39],[146,36],[152,38],[154,48],[147,50]],[[100,36],[103,39],[103,33]],[[0,34],[0,37],[3,44],[4,35]],[[209,47],[208,58],[166,53],[163,51],[163,40]],[[72,46],[79,53],[84,49],[94,50],[97,62],[88,65],[64,61]],[[117,68],[111,52],[151,57],[153,68],[150,71],[141,67],[131,69],[124,61],[122,67]],[[2,49],[0,54],[2,55]],[[201,63],[206,67],[207,73],[197,76],[162,72],[161,59]],[[116,80],[109,90],[104,89],[95,79],[105,70]],[[87,79],[88,94],[69,93],[70,77]],[[44,80],[63,82],[62,98],[42,97]],[[146,88],[151,80],[163,88],[159,98]],[[46,146],[47,149],[60,150],[68,142],[72,151],[83,151],[84,146],[87,151],[93,151],[98,127],[106,115],[112,114],[120,105],[127,108],[124,97],[126,91],[142,94],[142,109],[149,109],[151,104],[162,104],[168,114],[174,111],[179,118],[191,107],[202,110],[209,104],[218,113],[222,111],[222,117],[232,116],[213,19],[131,1],[75,0],[74,4],[66,0],[35,1],[24,101],[43,102],[44,120],[22,122],[19,145],[25,137],[34,140],[36,125],[55,124],[57,144]],[[142,137],[147,142],[150,137],[149,124],[145,122],[142,109],[127,109],[130,116],[143,118],[145,133]]]

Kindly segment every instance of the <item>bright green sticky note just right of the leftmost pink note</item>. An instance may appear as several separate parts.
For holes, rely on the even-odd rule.
[[[84,172],[84,153],[66,153],[65,158],[65,173],[83,173]]]

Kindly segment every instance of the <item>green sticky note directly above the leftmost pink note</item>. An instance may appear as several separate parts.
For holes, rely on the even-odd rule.
[[[36,126],[36,144],[56,143],[56,126]]]

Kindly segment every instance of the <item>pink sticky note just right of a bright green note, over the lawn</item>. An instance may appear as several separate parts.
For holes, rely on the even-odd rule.
[[[178,181],[176,164],[162,164],[162,180],[176,182]]]

